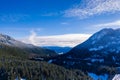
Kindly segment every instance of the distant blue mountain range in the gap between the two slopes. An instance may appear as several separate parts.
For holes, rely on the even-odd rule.
[[[54,50],[58,54],[67,53],[72,49],[72,47],[59,47],[59,46],[44,46],[43,48]]]

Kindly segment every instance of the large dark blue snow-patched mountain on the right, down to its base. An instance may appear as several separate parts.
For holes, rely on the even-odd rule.
[[[120,29],[102,29],[68,53],[58,56],[52,63],[83,71],[115,73],[120,67]]]

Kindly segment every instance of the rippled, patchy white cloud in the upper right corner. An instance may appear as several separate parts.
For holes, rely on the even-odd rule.
[[[66,10],[64,15],[82,19],[93,15],[120,11],[120,0],[83,0],[83,3],[84,5],[76,5]]]

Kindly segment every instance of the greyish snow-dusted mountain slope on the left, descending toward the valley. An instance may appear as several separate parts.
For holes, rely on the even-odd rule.
[[[38,56],[56,55],[56,53],[52,50],[40,48],[32,44],[25,44],[23,42],[13,39],[12,37],[8,35],[3,35],[3,34],[0,34],[0,46],[2,47],[1,49],[4,48],[3,46],[7,46],[9,48],[17,48],[23,52],[26,52],[29,54],[35,54]]]

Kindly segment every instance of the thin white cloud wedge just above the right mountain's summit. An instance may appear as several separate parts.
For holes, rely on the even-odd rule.
[[[108,23],[97,24],[97,25],[94,25],[94,27],[97,27],[97,28],[104,28],[104,27],[120,28],[120,20],[108,22]]]

